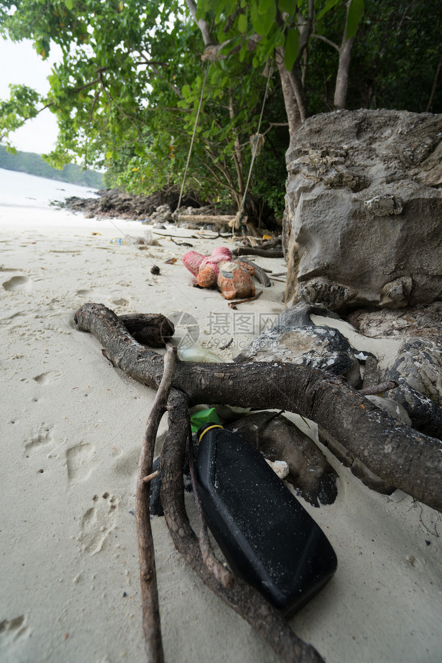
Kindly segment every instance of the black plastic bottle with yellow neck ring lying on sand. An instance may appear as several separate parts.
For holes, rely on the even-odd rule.
[[[197,437],[195,477],[213,536],[233,572],[290,617],[335,573],[335,551],[249,442],[214,423]]]

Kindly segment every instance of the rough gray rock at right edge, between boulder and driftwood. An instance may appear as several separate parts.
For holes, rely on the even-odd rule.
[[[407,339],[385,379],[398,383],[388,396],[408,412],[413,428],[442,439],[442,347]]]

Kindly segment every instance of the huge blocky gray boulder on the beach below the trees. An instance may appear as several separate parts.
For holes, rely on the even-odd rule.
[[[338,111],[287,153],[286,305],[442,299],[442,115]]]

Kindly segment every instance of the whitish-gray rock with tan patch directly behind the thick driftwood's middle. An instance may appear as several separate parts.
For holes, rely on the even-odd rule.
[[[262,331],[235,361],[288,361],[343,375],[352,387],[358,387],[355,350],[339,330],[313,324],[309,313],[330,316],[325,306],[298,302],[284,311],[274,326]]]

